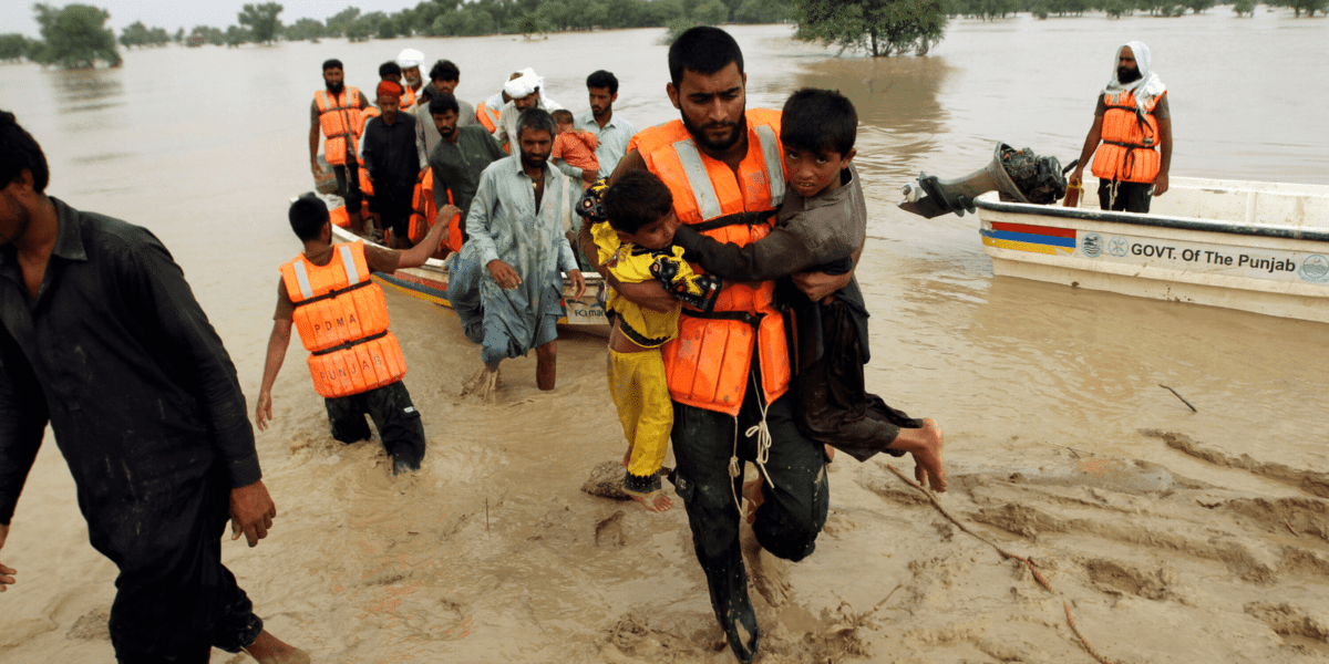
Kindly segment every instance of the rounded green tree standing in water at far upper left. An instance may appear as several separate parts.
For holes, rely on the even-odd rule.
[[[85,69],[98,60],[120,66],[116,36],[105,28],[110,12],[86,4],[70,4],[61,9],[47,3],[32,5],[41,27],[41,42],[28,53],[28,58],[44,65],[65,69]]]

